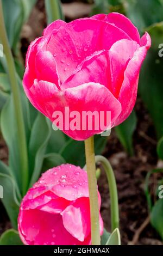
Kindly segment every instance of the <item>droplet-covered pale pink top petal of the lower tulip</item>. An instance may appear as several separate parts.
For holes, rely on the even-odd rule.
[[[56,196],[67,200],[89,197],[86,172],[72,164],[62,164],[48,170],[42,174],[40,181]]]

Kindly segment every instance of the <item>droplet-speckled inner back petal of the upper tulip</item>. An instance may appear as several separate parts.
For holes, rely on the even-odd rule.
[[[95,51],[109,50],[117,40],[130,39],[116,26],[94,19],[79,19],[54,31],[47,42],[57,62],[61,83]]]

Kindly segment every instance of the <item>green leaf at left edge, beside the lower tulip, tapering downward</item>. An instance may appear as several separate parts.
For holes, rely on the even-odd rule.
[[[3,187],[2,203],[8,213],[12,226],[17,228],[17,216],[20,203],[17,200],[15,181],[11,176],[0,173],[0,184]]]

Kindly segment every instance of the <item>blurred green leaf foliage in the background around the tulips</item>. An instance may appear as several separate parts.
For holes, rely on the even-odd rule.
[[[17,83],[19,85],[23,119],[26,127],[26,140],[28,149],[28,180],[27,188],[39,178],[40,174],[48,168],[61,163],[73,163],[81,167],[85,164],[84,143],[73,141],[61,131],[53,131],[52,125],[42,114],[38,113],[29,103],[22,89],[24,60],[21,53],[21,31],[36,4],[36,0],[2,0],[5,27],[9,44],[14,57]],[[68,2],[68,1],[63,1]],[[163,44],[163,0],[85,0],[91,4],[90,16],[98,13],[117,11],[129,17],[142,35],[147,31],[152,38],[152,47],[143,63],[139,95],[145,103],[154,123],[158,138],[157,153],[163,160],[163,59],[159,50]],[[45,0],[47,23],[56,19],[65,19],[61,2],[59,0]],[[0,39],[1,41],[1,39]],[[162,51],[163,52],[163,51]],[[160,52],[161,53],[161,52]],[[9,166],[0,162],[0,184],[4,186],[4,199],[2,203],[8,212],[12,226],[17,228],[17,214],[21,199],[24,195],[21,176],[21,159],[18,154],[18,133],[15,126],[15,113],[13,108],[12,93],[7,60],[0,57],[0,113],[1,133],[9,149]],[[136,129],[137,119],[135,112],[123,124],[116,127],[116,133],[124,149],[129,155],[134,154],[133,134]],[[95,136],[96,154],[101,154],[108,138]],[[162,169],[152,170],[162,172]],[[146,196],[149,202],[150,192],[149,177],[146,182]],[[159,181],[158,185],[163,184]],[[14,191],[14,193],[13,193]],[[156,196],[158,191],[156,191]],[[158,230],[163,239],[163,200],[159,199],[150,205],[153,227]],[[11,230],[0,239],[0,244],[8,243],[8,237],[15,237],[16,231]],[[13,235],[14,234],[14,235]],[[6,240],[5,240],[5,237]]]

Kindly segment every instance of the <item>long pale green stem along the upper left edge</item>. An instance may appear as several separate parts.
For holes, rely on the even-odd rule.
[[[16,79],[16,70],[14,59],[10,50],[7,33],[5,31],[4,17],[2,0],[0,0],[0,38],[3,45],[3,50],[8,64],[8,72],[12,90],[12,96],[14,101],[14,111],[17,125],[18,133],[18,149],[21,159],[21,171],[22,171],[22,193],[26,193],[27,183],[28,183],[28,154],[27,154],[27,142],[26,142],[26,132],[23,121],[22,104],[20,91]]]

